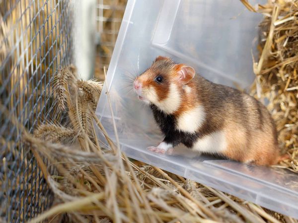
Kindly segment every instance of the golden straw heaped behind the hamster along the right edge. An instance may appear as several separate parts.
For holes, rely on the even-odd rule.
[[[290,155],[277,167],[298,172],[298,0],[270,0],[258,8],[265,18],[251,93],[269,102],[280,147]]]

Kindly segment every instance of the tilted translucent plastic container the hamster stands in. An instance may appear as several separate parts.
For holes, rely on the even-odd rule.
[[[193,66],[213,82],[246,88],[254,79],[251,51],[261,19],[239,0],[129,0],[107,84],[121,148],[129,157],[298,218],[298,174],[200,156],[183,146],[172,155],[146,150],[163,137],[128,81],[162,55]],[[106,90],[96,114],[115,139]]]

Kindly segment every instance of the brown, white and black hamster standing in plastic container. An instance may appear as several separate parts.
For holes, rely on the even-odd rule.
[[[282,159],[266,107],[248,94],[206,80],[191,66],[158,56],[136,77],[133,88],[149,104],[164,134],[150,151],[164,154],[183,143],[201,153],[255,165]]]

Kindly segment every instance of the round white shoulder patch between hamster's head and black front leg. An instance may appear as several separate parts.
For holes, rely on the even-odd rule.
[[[184,111],[177,119],[177,129],[194,133],[203,125],[205,116],[203,106],[197,106],[192,110]]]

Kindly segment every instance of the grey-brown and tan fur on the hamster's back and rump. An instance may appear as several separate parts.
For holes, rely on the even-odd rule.
[[[236,89],[211,83],[197,75],[194,97],[208,112],[200,131],[208,134],[224,129],[232,160],[256,165],[273,165],[279,158],[275,123],[263,104]]]

